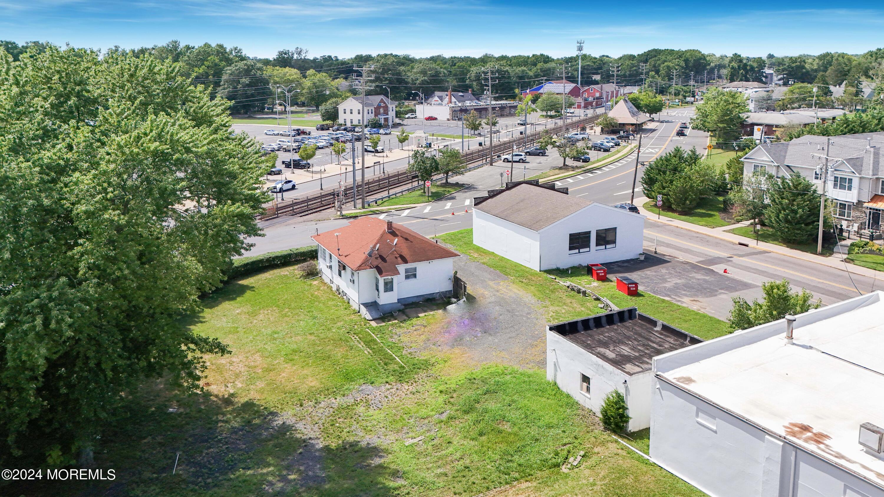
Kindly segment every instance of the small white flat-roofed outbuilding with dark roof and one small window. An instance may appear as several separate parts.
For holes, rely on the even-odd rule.
[[[546,326],[546,379],[597,414],[620,390],[628,430],[651,423],[652,358],[703,340],[635,307]]]

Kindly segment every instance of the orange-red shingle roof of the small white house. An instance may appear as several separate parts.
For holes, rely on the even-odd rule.
[[[374,269],[380,276],[399,274],[396,266],[400,264],[460,256],[452,249],[396,223],[389,222],[392,233],[387,233],[388,222],[378,218],[358,218],[347,226],[310,238],[353,271]],[[395,247],[393,241],[396,241]]]

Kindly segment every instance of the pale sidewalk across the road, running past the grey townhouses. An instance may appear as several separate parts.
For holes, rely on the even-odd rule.
[[[829,267],[833,267],[834,269],[840,269],[845,271],[844,264],[845,262],[842,260],[842,253],[838,249],[838,247],[834,248],[834,254],[832,256],[824,257],[817,256],[816,254],[808,254],[807,252],[803,252],[801,250],[796,250],[794,248],[781,247],[780,245],[774,245],[773,243],[767,243],[766,241],[756,241],[751,238],[746,238],[744,236],[740,236],[734,233],[726,233],[726,230],[738,227],[738,226],[748,226],[749,222],[737,223],[735,225],[730,226],[720,226],[717,228],[707,228],[705,226],[695,225],[693,223],[689,223],[687,221],[682,221],[680,219],[666,218],[661,216],[659,219],[657,218],[657,212],[653,212],[651,210],[644,209],[643,205],[649,199],[647,197],[636,197],[636,207],[638,210],[644,214],[648,218],[648,220],[653,221],[655,223],[660,223],[663,225],[675,226],[677,228],[682,228],[684,230],[692,231],[694,233],[701,233],[708,236],[714,236],[720,240],[730,241],[733,243],[748,243],[751,248],[759,248],[761,250],[765,250],[767,252],[773,252],[774,254],[780,254],[781,256],[789,256],[794,257],[796,259],[801,259],[804,261],[808,261],[816,264],[823,264]],[[838,245],[843,250],[843,255],[847,256],[847,248],[850,247],[850,242],[855,240],[845,240],[841,241]],[[853,274],[860,274],[863,276],[867,276],[869,278],[880,278],[881,274],[879,271],[875,271],[873,269],[865,268],[863,266],[858,266],[856,264],[848,264],[848,269]]]

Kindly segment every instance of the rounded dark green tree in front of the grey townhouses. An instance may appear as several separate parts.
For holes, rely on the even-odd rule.
[[[780,241],[804,243],[816,238],[819,229],[817,187],[801,174],[768,181],[765,223]]]

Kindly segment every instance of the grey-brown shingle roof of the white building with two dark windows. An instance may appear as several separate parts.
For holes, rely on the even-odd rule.
[[[588,200],[567,193],[522,183],[482,203],[476,203],[474,210],[481,210],[531,231],[540,231],[591,204]]]

